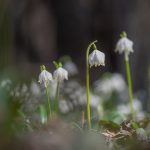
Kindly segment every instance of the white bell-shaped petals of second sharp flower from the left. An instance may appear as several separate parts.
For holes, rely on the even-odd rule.
[[[64,79],[68,80],[68,71],[63,69],[62,67],[58,67],[54,71],[54,79],[56,79],[58,82],[64,81]]]

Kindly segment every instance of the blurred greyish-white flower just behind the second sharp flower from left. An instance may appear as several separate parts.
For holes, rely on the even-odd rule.
[[[78,74],[77,66],[71,60],[67,61],[63,67],[64,67],[64,69],[66,69],[68,71],[70,76]]]

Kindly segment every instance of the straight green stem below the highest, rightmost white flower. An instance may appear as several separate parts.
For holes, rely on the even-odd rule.
[[[128,56],[126,56],[126,55],[125,55],[125,66],[126,66],[126,75],[127,75],[127,80],[128,80],[128,86],[129,86],[128,89],[129,89],[130,109],[131,109],[131,114],[132,114],[132,120],[135,121],[131,72],[130,72],[129,59],[128,59]]]

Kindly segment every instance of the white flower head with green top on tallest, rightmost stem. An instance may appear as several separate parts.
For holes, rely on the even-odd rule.
[[[127,58],[128,55],[133,52],[133,42],[127,38],[126,32],[122,32],[120,36],[121,38],[116,44],[115,51],[120,54],[124,53]]]

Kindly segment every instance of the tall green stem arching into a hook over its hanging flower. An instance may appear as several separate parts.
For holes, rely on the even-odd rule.
[[[89,52],[90,52],[90,48],[96,42],[97,41],[90,43],[86,50],[86,97],[87,97],[87,120],[88,120],[89,128],[91,128]]]

